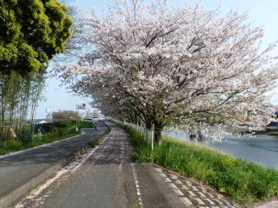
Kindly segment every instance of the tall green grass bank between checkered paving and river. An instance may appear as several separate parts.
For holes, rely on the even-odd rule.
[[[275,168],[263,168],[202,144],[187,144],[170,137],[163,137],[162,144],[154,145],[152,153],[142,135],[127,126],[123,128],[130,133],[131,142],[137,148],[133,153],[136,162],[154,162],[194,177],[247,207],[278,196]]]

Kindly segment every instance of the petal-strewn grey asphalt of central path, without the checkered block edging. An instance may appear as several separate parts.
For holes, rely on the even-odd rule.
[[[163,180],[151,165],[131,163],[133,149],[127,133],[114,123],[109,125],[111,135],[78,168],[68,168],[17,207],[184,207],[166,184],[161,185]]]

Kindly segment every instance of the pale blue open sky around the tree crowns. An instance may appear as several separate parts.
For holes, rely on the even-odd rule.
[[[102,0],[101,0],[102,1]],[[99,0],[77,0],[81,10],[85,12],[90,8],[96,8],[97,10],[106,9],[105,3]],[[104,1],[104,0],[103,0]],[[105,0],[109,2],[109,0]],[[172,6],[184,6],[188,1],[181,0],[168,0]],[[189,1],[195,3],[194,0]],[[265,35],[262,39],[262,47],[267,47],[270,42],[278,40],[278,1],[277,0],[203,0],[200,1],[203,8],[217,8],[221,6],[220,11],[222,14],[227,13],[231,8],[238,10],[238,12],[246,12],[249,15],[249,21],[254,26],[263,26]],[[278,46],[272,51],[272,55],[278,55]],[[49,70],[51,70],[53,64],[50,64]],[[60,80],[56,78],[47,78],[47,87],[42,94],[44,95],[44,101],[38,103],[37,119],[43,119],[47,116],[47,107],[51,108],[52,112],[58,110],[75,110],[76,105],[85,103],[89,106],[89,99],[80,98],[74,96],[72,93],[67,92],[65,86],[60,86]],[[272,103],[278,105],[278,94],[272,98]],[[92,108],[91,108],[92,109]],[[93,109],[92,109],[93,110]],[[80,112],[85,112],[80,110]]]

